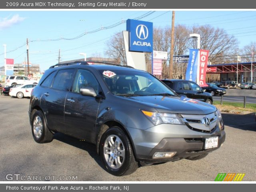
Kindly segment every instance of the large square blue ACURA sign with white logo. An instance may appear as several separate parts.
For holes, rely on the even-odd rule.
[[[153,23],[128,19],[126,30],[130,32],[129,51],[153,52]]]

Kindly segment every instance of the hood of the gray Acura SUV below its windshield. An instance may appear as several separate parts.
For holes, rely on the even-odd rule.
[[[211,104],[186,97],[134,96],[126,97],[126,99],[152,107],[158,112],[178,114],[210,114],[216,111],[216,107]],[[141,109],[143,110],[143,108]],[[147,109],[144,108],[144,110]]]

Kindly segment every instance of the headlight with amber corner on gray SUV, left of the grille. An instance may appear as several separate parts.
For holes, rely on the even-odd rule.
[[[142,113],[154,124],[180,124],[184,123],[180,120],[177,114],[174,113],[158,113],[141,110]]]

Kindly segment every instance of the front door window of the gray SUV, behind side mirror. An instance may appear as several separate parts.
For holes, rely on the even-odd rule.
[[[97,94],[99,93],[99,84],[94,75],[87,70],[79,69],[76,73],[72,92],[80,93],[80,88],[83,87],[92,87]]]

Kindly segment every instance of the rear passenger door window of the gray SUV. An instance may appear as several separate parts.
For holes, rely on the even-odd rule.
[[[74,72],[74,69],[59,70],[54,78],[52,88],[62,91],[69,91]]]

